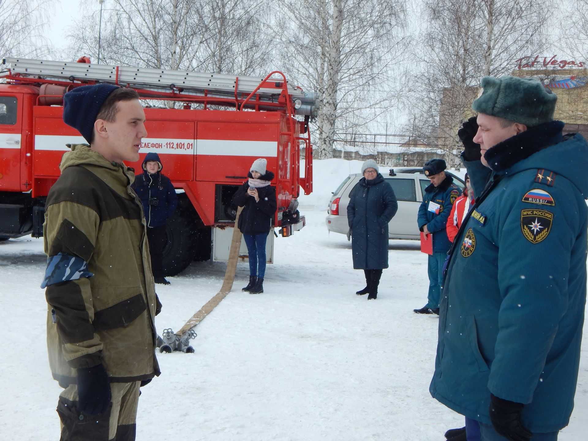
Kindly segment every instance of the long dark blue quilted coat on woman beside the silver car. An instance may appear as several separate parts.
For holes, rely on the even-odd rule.
[[[396,195],[380,173],[355,184],[347,206],[353,268],[388,268],[388,222],[397,209]]]

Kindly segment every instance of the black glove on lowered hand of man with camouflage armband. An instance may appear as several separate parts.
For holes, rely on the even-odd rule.
[[[78,404],[80,412],[100,415],[111,402],[110,383],[104,366],[78,369]]]

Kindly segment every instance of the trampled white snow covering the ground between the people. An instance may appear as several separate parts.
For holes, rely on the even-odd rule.
[[[158,356],[162,375],[139,401],[139,441],[441,441],[463,425],[428,391],[438,319],[412,312],[425,305],[428,285],[419,243],[390,240],[390,268],[368,302],[355,295],[365,280],[352,269],[350,243],[326,230],[330,191],[359,165],[316,161],[315,193],[300,198],[306,228],[276,239],[265,293],[240,291],[248,268],[239,264],[233,292],[196,328],[196,352]],[[225,268],[193,263],[158,285],[158,330],[181,328],[218,292]],[[2,440],[59,439],[44,269],[42,239],[0,242]],[[587,345],[562,441],[588,433]]]

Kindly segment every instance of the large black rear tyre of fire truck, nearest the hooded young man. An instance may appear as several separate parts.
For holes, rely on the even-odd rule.
[[[188,268],[196,256],[196,222],[191,212],[179,206],[168,219],[165,230],[168,243],[163,249],[163,272],[166,276],[175,276]]]

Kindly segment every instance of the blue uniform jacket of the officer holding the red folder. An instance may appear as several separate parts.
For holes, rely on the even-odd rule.
[[[425,196],[423,202],[419,206],[418,223],[419,229],[422,231],[423,226],[427,226],[427,230],[433,233],[433,252],[446,253],[451,248],[451,241],[447,238],[447,219],[451,213],[453,202],[462,194],[453,178],[449,175],[443,179],[439,186],[433,184],[427,186],[425,189]],[[437,211],[432,211],[431,204],[439,206]],[[429,210],[431,208],[431,210]]]

